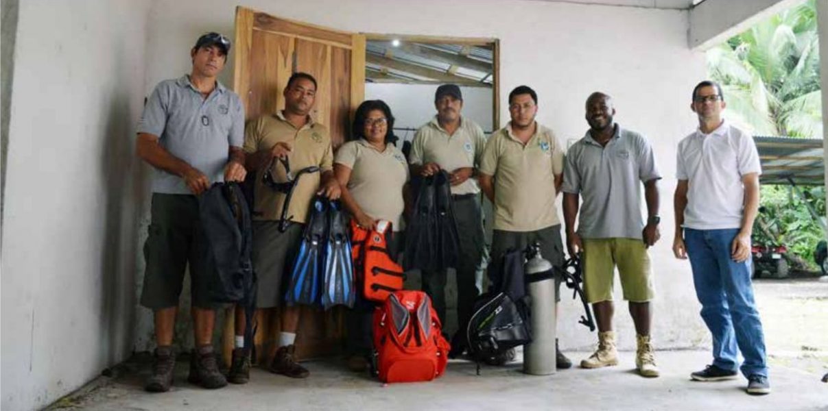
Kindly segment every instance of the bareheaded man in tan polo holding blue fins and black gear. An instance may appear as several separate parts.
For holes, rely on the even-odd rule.
[[[315,194],[335,199],[339,198],[340,189],[334,178],[334,154],[328,129],[310,118],[310,109],[315,102],[316,80],[310,74],[295,73],[287,81],[283,94],[285,109],[249,122],[244,133],[244,151],[248,153],[246,166],[248,171],[256,173],[252,257],[253,269],[258,275],[257,308],[282,310],[282,332],[279,333],[278,350],[269,370],[292,378],[305,378],[308,370],[293,359],[300,308],[284,305],[283,277],[291,273],[291,263],[299,248],[304,222]],[[268,165],[272,165],[274,179],[286,180],[284,167],[274,161],[283,157],[290,160],[293,174],[310,166],[318,166],[321,170],[320,173],[304,174],[299,179],[286,214],[292,216],[291,221],[296,223],[289,225],[286,232],[280,232],[278,228],[285,194],[262,182]],[[272,342],[274,337],[267,336],[268,342]],[[249,366],[238,368],[246,372]]]

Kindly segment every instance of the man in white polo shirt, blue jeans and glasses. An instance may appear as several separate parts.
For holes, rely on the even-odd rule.
[[[748,394],[768,394],[764,334],[750,281],[750,235],[762,173],[758,152],[749,134],[722,119],[719,84],[703,81],[692,97],[699,129],[678,146],[673,252],[682,260],[690,257],[701,318],[713,334],[713,364],[691,378],[736,378],[741,351]]]

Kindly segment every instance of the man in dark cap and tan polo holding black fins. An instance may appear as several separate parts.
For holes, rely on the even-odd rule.
[[[474,169],[486,145],[483,129],[476,122],[460,116],[463,94],[455,84],[443,84],[434,96],[437,114],[420,127],[412,141],[409,158],[412,175],[431,175],[446,170],[451,179],[451,198],[460,234],[460,258],[457,279],[457,325],[459,332],[451,341],[450,356],[465,349],[465,327],[469,323],[478,289],[474,273],[485,246],[483,218],[480,212],[480,188]],[[445,283],[447,273],[422,272],[422,289],[434,303],[440,321],[445,324]]]

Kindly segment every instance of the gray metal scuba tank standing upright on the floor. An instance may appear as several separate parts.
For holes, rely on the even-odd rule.
[[[529,246],[524,267],[531,300],[532,342],[523,346],[523,372],[550,375],[556,371],[555,269],[541,256],[539,244]]]

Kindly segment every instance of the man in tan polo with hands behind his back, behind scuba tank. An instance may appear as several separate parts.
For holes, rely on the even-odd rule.
[[[509,93],[509,114],[512,121],[489,137],[480,161],[480,189],[494,204],[489,264],[493,284],[498,284],[499,260],[509,249],[538,242],[543,258],[556,266],[564,262],[561,220],[555,205],[564,171],[561,142],[535,121],[537,93],[532,88],[519,86]],[[555,283],[556,300],[560,300],[561,278],[557,275]],[[556,351],[558,368],[572,366],[560,350]]]

